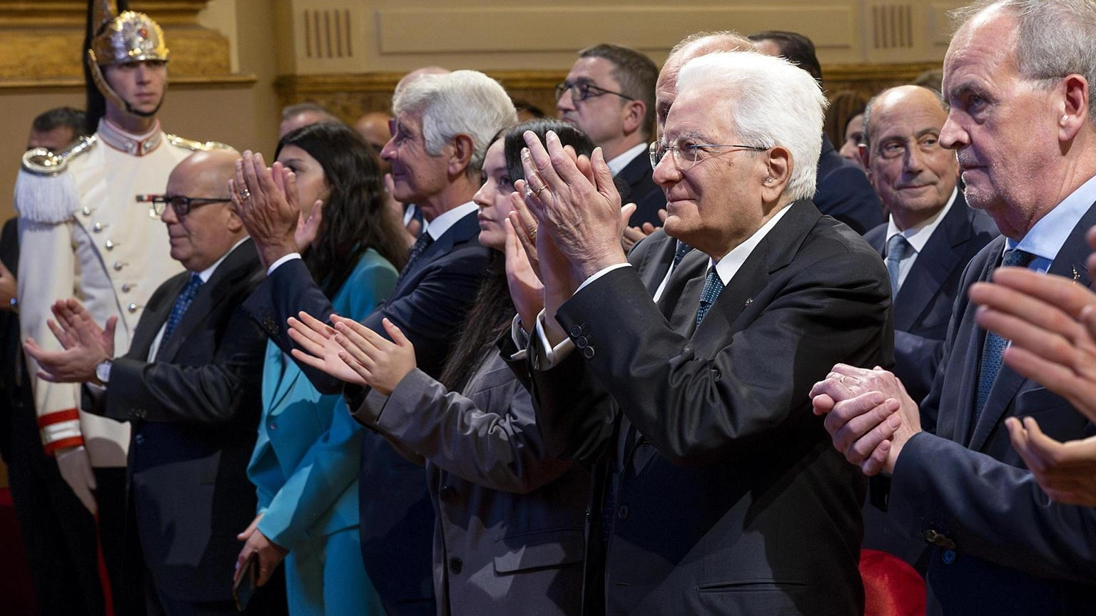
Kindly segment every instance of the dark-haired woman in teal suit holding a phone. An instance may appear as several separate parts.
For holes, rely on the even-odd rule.
[[[407,258],[375,157],[349,127],[316,124],[283,137],[275,158],[296,179],[297,244],[309,272],[340,315],[365,318],[396,285]],[[315,205],[304,212],[308,204]],[[273,343],[262,395],[248,466],[259,510],[239,536],[247,541],[239,563],[258,551],[261,585],[284,557],[293,616],[384,614],[358,544],[361,426],[341,396],[320,395]]]

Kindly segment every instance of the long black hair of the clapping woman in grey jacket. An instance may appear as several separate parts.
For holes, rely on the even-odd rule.
[[[541,142],[549,130],[553,130],[560,142],[571,146],[576,153],[590,156],[594,145],[586,134],[575,126],[550,118],[536,118],[523,122],[504,129],[491,140],[494,145],[503,140],[503,156],[506,159],[506,173],[512,180],[525,178],[522,170],[522,148],[525,147],[526,130],[536,133]],[[476,301],[468,310],[464,327],[458,332],[457,341],[445,358],[442,369],[442,385],[449,391],[460,391],[468,385],[483,361],[493,352],[499,338],[510,331],[510,322],[514,318],[514,301],[510,297],[506,285],[506,258],[499,251],[491,251],[488,259],[487,277],[480,284]]]

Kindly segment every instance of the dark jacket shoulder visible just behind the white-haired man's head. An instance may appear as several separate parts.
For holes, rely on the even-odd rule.
[[[841,158],[825,135],[813,201],[819,212],[833,216],[857,233],[863,235],[883,220],[879,196],[864,170]]]

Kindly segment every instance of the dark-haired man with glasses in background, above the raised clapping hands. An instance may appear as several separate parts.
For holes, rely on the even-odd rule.
[[[659,209],[666,206],[643,160],[654,129],[658,77],[658,67],[643,54],[603,44],[579,52],[567,80],[556,87],[559,118],[581,128],[602,148],[609,170],[620,180],[620,197],[636,204],[631,227],[661,226]]]

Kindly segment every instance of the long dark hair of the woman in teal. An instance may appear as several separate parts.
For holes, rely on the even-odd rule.
[[[397,270],[403,267],[407,244],[395,216],[385,207],[380,169],[362,137],[344,124],[312,124],[282,137],[275,159],[286,146],[316,159],[330,190],[316,241],[301,254],[323,293],[333,297],[369,248]]]

